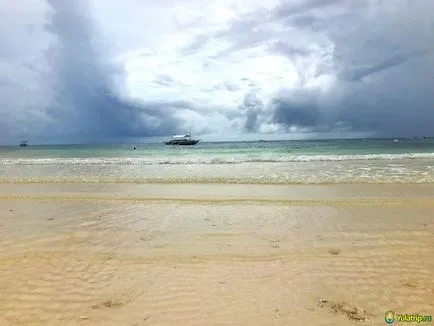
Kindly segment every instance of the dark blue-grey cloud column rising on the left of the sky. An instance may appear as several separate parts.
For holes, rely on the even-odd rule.
[[[123,71],[103,61],[97,31],[83,1],[48,0],[47,30],[57,39],[50,59],[56,101],[48,110],[57,135],[103,140],[172,133],[170,103],[140,103],[122,97],[115,85]],[[167,82],[167,80],[166,80]]]

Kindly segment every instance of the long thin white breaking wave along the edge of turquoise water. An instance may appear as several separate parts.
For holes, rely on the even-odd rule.
[[[434,159],[434,153],[267,155],[267,156],[174,156],[174,157],[93,157],[93,158],[3,158],[0,165],[158,165],[158,164],[242,164],[283,162],[340,162],[366,160]]]

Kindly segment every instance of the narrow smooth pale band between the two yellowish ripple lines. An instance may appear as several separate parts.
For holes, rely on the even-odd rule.
[[[47,182],[1,183],[0,196],[14,192],[21,194],[127,194],[142,198],[160,196],[173,198],[285,198],[345,199],[345,198],[434,198],[434,183],[351,183],[351,184],[226,184],[226,183],[98,183]],[[18,194],[17,193],[17,194]]]

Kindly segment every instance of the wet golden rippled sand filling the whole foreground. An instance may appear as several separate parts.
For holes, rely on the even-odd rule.
[[[0,185],[0,325],[434,313],[434,186]]]

